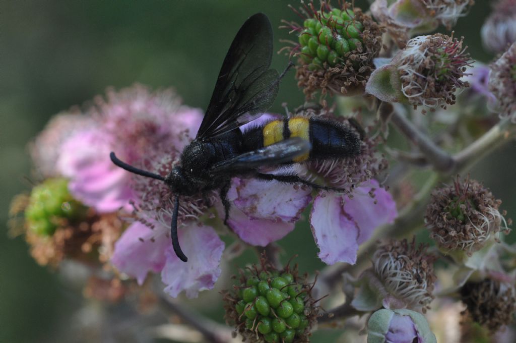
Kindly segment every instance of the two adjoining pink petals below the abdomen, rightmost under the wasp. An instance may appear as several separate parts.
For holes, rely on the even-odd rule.
[[[375,180],[363,183],[352,197],[319,193],[310,214],[319,258],[327,264],[355,263],[359,244],[369,239],[377,227],[392,223],[396,215],[392,196],[378,188]]]

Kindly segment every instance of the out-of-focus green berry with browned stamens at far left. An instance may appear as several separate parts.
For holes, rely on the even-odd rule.
[[[65,258],[105,263],[123,226],[116,214],[96,213],[75,200],[63,178],[47,179],[30,196],[15,197],[9,212],[11,232],[25,233],[30,254],[43,266],[56,267]]]

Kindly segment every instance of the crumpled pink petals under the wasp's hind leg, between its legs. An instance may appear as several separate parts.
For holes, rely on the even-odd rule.
[[[265,246],[294,229],[312,200],[311,189],[278,181],[234,178],[228,225],[246,243]],[[219,213],[223,215],[223,210]]]

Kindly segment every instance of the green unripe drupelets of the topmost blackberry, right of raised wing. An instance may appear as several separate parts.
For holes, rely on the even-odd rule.
[[[318,11],[313,17],[303,22],[298,37],[301,59],[309,69],[322,68],[324,63],[331,67],[344,63],[349,52],[362,46],[364,25],[354,19],[351,8]]]

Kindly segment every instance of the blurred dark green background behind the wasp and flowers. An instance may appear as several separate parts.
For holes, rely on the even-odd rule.
[[[299,2],[290,2],[298,6]],[[363,6],[366,2],[357,1]],[[27,143],[49,118],[72,105],[103,94],[107,86],[135,82],[153,88],[174,87],[190,106],[205,108],[223,57],[241,24],[255,12],[266,13],[278,39],[281,19],[297,17],[280,1],[129,1],[69,0],[0,2],[0,342],[55,341],[82,304],[80,293],[58,274],[39,267],[23,238],[8,239],[7,212],[15,194],[27,192],[30,161]],[[457,37],[473,57],[488,62],[479,30],[490,12],[478,1],[456,26]],[[284,55],[272,66],[282,70]],[[293,73],[281,84],[272,110],[283,113],[302,103]],[[472,175],[485,181],[515,216],[514,144],[477,165]],[[303,270],[314,270],[317,248],[307,228],[285,240],[287,255]],[[295,247],[294,247],[295,246]],[[317,341],[332,341],[320,333]],[[76,337],[76,341],[86,341]]]

